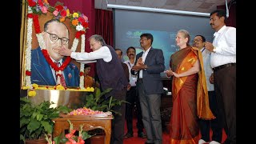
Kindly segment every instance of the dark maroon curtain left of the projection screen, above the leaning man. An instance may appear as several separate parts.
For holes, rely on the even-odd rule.
[[[114,46],[114,20],[111,10],[95,9],[95,34],[101,35],[106,44]]]

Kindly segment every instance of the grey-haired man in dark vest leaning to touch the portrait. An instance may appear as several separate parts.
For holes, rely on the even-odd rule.
[[[113,96],[113,98],[120,101],[125,101],[128,80],[118,55],[112,46],[106,45],[102,36],[94,34],[89,38],[89,40],[90,49],[93,50],[90,53],[73,52],[69,49],[63,48],[59,50],[59,54],[70,56],[71,58],[78,60],[78,62],[96,62],[96,70],[102,90],[104,91],[108,88],[112,88],[110,93],[105,94],[105,96],[107,98]],[[113,110],[117,111],[121,115],[114,113],[111,131],[111,144],[122,144],[126,104],[122,103],[121,106],[114,106]]]

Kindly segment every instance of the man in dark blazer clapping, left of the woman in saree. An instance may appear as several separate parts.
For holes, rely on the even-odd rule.
[[[144,49],[136,55],[136,65],[131,73],[138,74],[136,86],[142,108],[142,122],[146,130],[147,143],[162,143],[160,114],[161,94],[164,92],[160,73],[165,70],[162,50],[152,47],[153,35],[142,34],[140,45]]]

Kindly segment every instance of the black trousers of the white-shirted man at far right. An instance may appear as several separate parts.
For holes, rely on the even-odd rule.
[[[236,144],[236,66],[214,70],[214,90],[227,134],[225,144]]]

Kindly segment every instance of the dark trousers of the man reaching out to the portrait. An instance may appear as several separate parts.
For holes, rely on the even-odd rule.
[[[113,94],[113,98],[118,100],[126,100],[126,88],[115,91]],[[112,120],[112,134],[111,134],[111,144],[122,144],[123,143],[123,135],[124,135],[124,128],[125,128],[125,113],[126,113],[126,103],[122,103],[121,106],[114,106],[114,111],[122,114],[114,114],[114,119]]]

